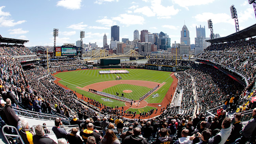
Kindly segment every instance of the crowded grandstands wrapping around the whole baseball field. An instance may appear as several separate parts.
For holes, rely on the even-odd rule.
[[[76,92],[54,83],[51,74],[55,72],[88,68],[83,60],[53,60],[48,71],[25,46],[1,44],[0,124],[4,136],[9,143],[26,144],[255,143],[255,40],[212,43],[194,60],[151,58],[145,64],[119,64],[187,68],[175,73],[178,82],[172,103],[155,117],[150,115],[158,109],[123,111],[123,107],[110,107],[90,95],[78,98]],[[100,71],[101,75],[111,73]],[[128,74],[129,70],[113,73]],[[133,101],[89,91],[105,96],[106,101]]]

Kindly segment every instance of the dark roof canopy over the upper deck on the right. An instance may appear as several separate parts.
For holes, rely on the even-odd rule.
[[[207,42],[210,42],[210,43],[231,42],[231,41],[237,41],[240,39],[253,37],[253,36],[256,36],[256,24],[225,37],[209,39],[207,40]]]

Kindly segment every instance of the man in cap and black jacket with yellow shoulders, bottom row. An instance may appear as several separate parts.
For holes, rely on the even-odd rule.
[[[96,140],[96,143],[99,144],[101,135],[93,131],[93,124],[89,123],[87,129],[80,131],[80,136],[83,138],[83,143],[87,142],[88,137],[93,136]]]

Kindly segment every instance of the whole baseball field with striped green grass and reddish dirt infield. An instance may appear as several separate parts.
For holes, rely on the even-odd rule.
[[[137,113],[139,113],[147,112],[153,108],[156,109],[162,102],[169,103],[169,101],[171,101],[170,98],[164,99],[165,96],[170,97],[170,90],[173,90],[171,87],[173,82],[171,72],[147,69],[126,69],[129,71],[129,74],[99,74],[99,70],[123,69],[86,69],[65,71],[53,75],[57,78],[55,83],[58,82],[58,84],[65,89],[76,91],[79,98],[81,98],[83,94],[84,97],[96,99],[100,103],[113,108],[115,106],[124,106],[126,107],[125,110],[137,111]],[[117,76],[122,77],[122,79],[115,80]],[[152,90],[158,84],[160,86],[156,91],[141,102],[137,102],[141,96]],[[88,92],[89,88],[113,95],[119,93],[119,96],[123,93],[126,98],[133,99],[136,103],[131,105],[127,102],[125,103],[123,101],[96,95]],[[159,108],[161,109],[161,107]]]

